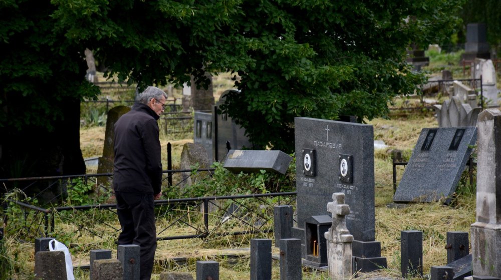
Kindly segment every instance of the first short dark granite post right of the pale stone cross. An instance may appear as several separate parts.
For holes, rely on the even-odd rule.
[[[402,277],[423,275],[423,232],[400,231],[400,270]]]

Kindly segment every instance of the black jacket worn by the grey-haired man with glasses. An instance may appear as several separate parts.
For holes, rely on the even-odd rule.
[[[134,103],[132,109],[115,123],[115,190],[160,192],[162,161],[158,118],[146,104]]]

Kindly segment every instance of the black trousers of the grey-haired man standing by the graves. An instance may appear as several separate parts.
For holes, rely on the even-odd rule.
[[[140,280],[150,280],[156,249],[153,194],[115,191],[122,232],[118,244],[141,246]]]

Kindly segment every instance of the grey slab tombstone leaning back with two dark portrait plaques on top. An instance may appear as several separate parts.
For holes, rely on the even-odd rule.
[[[393,201],[448,203],[475,141],[476,127],[423,128]]]

